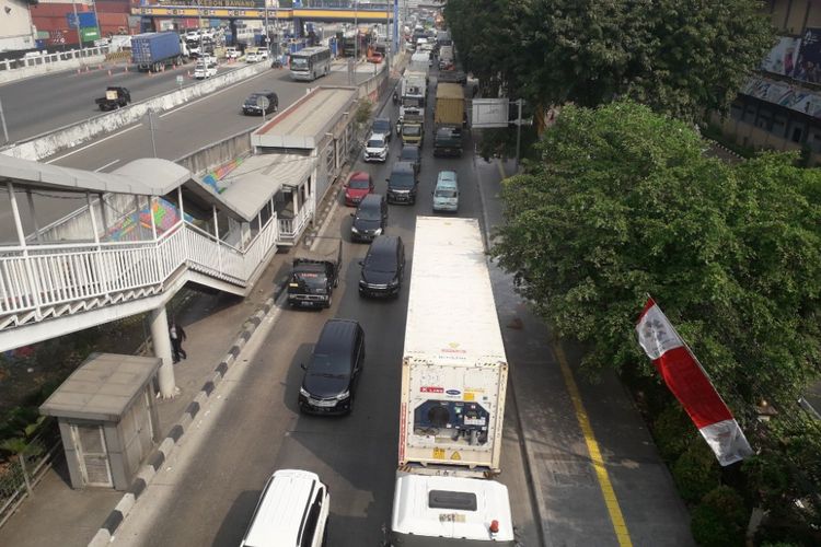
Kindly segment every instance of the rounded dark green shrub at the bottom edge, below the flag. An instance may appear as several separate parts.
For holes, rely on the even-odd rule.
[[[744,545],[747,510],[741,496],[727,486],[714,488],[693,510],[693,538],[704,547]]]

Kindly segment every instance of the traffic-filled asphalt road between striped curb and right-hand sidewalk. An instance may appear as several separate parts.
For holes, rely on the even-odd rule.
[[[432,120],[429,121],[418,201],[415,206],[390,206],[389,213],[388,233],[402,236],[410,269],[415,219],[417,214],[431,214],[431,191],[438,171],[459,173],[459,216],[482,217],[471,154],[435,160]],[[400,147],[394,137],[385,164],[358,162],[355,166],[371,173],[379,193],[385,191],[385,178]],[[349,243],[351,211],[339,205],[324,233],[339,235],[346,242],[345,266],[333,307],[323,312],[282,310],[270,330],[261,333],[265,338],[247,366],[227,379],[230,383],[226,393],[211,408],[213,420],[207,420],[210,423],[206,430],[197,432],[207,442],[189,441],[192,446],[183,449],[183,454],[187,452],[190,457],[182,455],[170,465],[173,470],[167,478],[158,477],[162,486],[152,485],[146,501],[131,512],[117,532],[117,545],[238,545],[265,480],[274,470],[289,467],[313,470],[328,485],[329,546],[379,545],[381,527],[390,523],[393,503],[400,363],[409,275],[395,301],[359,296],[358,260],[368,247]],[[355,410],[340,418],[301,416],[297,407],[302,380],[300,363],[308,361],[312,344],[331,317],[355,318],[366,333],[367,358]],[[511,397],[508,399],[512,404]],[[510,488],[513,517],[524,545],[535,546],[535,519],[512,409],[508,416],[511,418],[506,420],[501,480]]]

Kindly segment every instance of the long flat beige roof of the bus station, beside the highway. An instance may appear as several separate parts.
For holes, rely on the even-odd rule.
[[[311,150],[357,97],[355,88],[316,88],[251,135],[267,148]]]

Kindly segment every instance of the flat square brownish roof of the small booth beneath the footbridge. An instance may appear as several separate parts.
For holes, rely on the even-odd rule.
[[[92,353],[39,407],[44,416],[118,422],[162,364],[159,357]]]

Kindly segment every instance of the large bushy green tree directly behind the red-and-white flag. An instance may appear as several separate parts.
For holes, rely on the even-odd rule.
[[[738,166],[648,107],[566,107],[541,160],[504,184],[494,248],[591,372],[651,364],[636,342],[647,293],[740,418],[791,405],[819,373],[819,170],[795,155]]]

